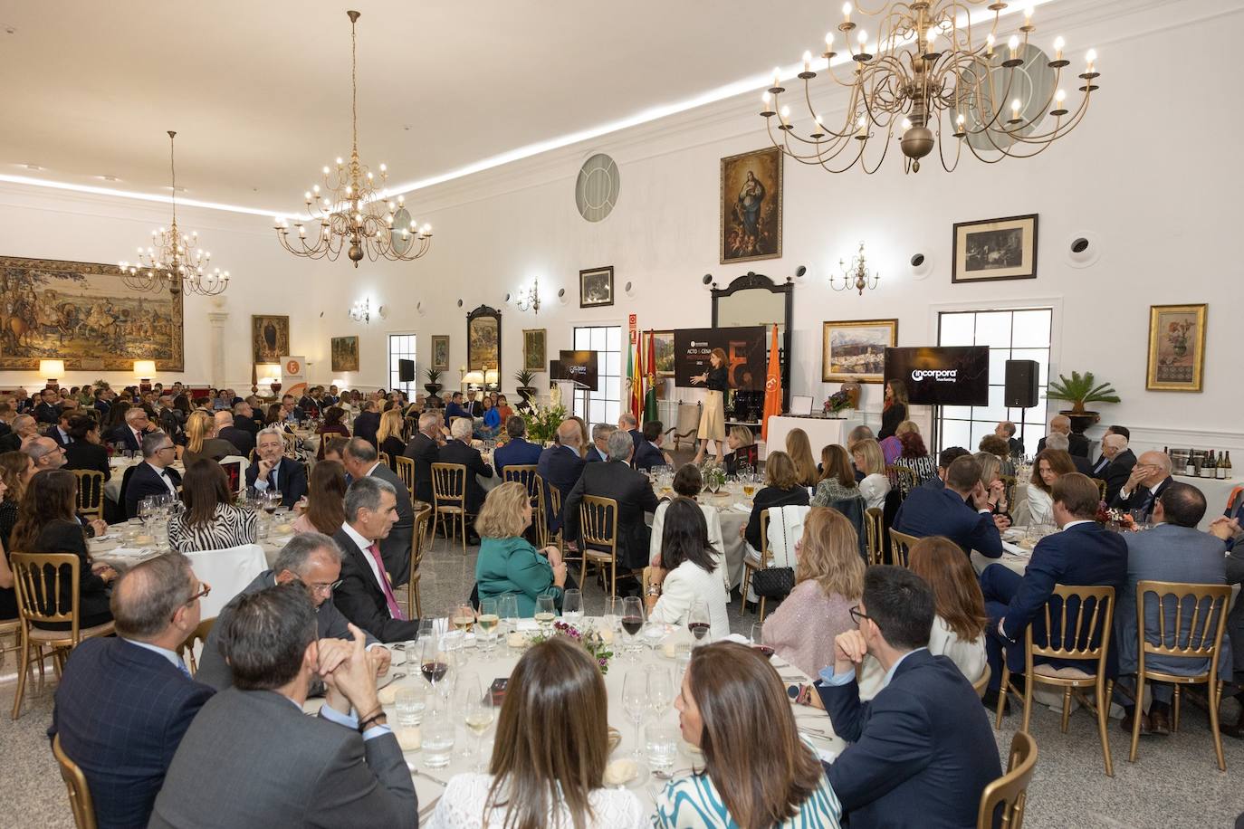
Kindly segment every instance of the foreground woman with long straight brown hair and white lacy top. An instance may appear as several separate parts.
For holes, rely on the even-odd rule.
[[[608,754],[596,662],[561,636],[532,645],[510,675],[489,773],[455,774],[428,829],[651,827],[633,792],[605,787]]]

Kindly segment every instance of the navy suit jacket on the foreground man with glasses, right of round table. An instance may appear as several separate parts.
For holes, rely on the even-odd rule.
[[[855,680],[816,690],[851,743],[826,766],[851,829],[977,825],[1001,764],[989,717],[949,657],[912,651],[868,702]]]

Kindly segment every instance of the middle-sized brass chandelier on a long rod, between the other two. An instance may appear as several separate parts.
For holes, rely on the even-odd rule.
[[[296,256],[336,261],[345,250],[355,267],[364,256],[368,261],[382,257],[415,260],[432,245],[432,225],[420,229],[406,209],[403,196],[398,196],[396,203],[386,200],[388,170],[383,164],[377,183],[376,175],[358,160],[358,40],[355,26],[361,15],[357,11],[347,11],[346,15],[350,16],[350,82],[353,93],[350,160],[338,158],[336,174],[325,167],[323,189],[317,184],[304,194],[307,216],[318,221],[318,231],[309,239],[306,222],[299,220],[294,222],[297,239],[291,240],[289,222],[279,218],[276,235],[281,246]]]

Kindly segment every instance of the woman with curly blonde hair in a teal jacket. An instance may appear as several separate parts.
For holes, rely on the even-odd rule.
[[[518,481],[489,492],[475,518],[475,529],[483,539],[475,562],[479,598],[495,599],[513,593],[519,597],[520,616],[535,615],[537,595],[552,594],[560,608],[566,587],[566,563],[561,552],[551,546],[542,551],[532,547],[522,537],[530,526],[531,498]]]

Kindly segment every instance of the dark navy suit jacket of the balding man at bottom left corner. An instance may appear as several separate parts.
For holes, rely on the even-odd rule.
[[[123,639],[73,649],[49,738],[82,768],[100,829],[146,827],[182,736],[215,691]]]

